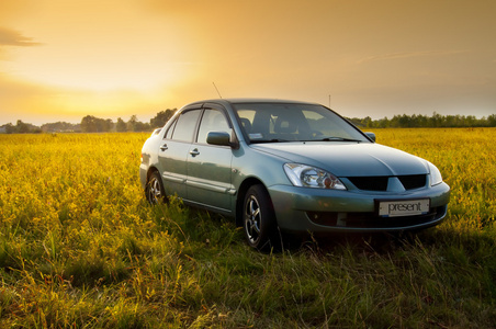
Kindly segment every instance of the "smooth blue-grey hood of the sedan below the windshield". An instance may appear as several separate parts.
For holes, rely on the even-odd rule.
[[[252,144],[288,162],[311,164],[337,177],[406,175],[428,173],[426,160],[379,144],[306,141]]]

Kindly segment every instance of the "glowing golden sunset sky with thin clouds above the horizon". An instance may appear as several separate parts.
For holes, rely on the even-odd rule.
[[[203,99],[496,114],[495,0],[0,0],[0,125]],[[214,86],[215,83],[215,86]]]

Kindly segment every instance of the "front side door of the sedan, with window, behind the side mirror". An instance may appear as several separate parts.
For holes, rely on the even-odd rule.
[[[221,107],[205,109],[200,121],[196,141],[188,155],[188,200],[228,212],[235,193],[230,170],[233,150],[228,146],[208,145],[210,132],[232,132]]]

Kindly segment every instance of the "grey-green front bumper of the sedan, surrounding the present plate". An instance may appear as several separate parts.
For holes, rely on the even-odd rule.
[[[403,193],[336,191],[290,185],[269,188],[278,225],[295,232],[374,232],[420,229],[442,222],[450,200],[446,183]],[[376,200],[430,198],[428,214],[380,217]]]

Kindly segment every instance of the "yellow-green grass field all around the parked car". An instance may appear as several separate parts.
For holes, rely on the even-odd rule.
[[[0,328],[496,328],[496,129],[375,133],[438,166],[447,219],[279,253],[149,206],[148,134],[0,135]]]

